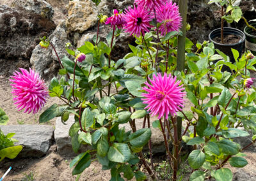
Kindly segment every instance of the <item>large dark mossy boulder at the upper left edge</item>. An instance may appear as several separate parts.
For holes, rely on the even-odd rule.
[[[8,73],[9,69],[13,71],[19,67],[28,68],[28,60],[39,38],[50,34],[55,27],[54,22],[41,15],[1,5],[0,72]],[[10,68],[10,64],[14,68]]]

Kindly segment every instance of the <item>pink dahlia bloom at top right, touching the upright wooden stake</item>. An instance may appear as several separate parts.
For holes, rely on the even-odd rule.
[[[171,31],[179,31],[181,27],[182,17],[180,17],[179,6],[172,1],[168,1],[164,6],[157,8],[157,22],[161,23],[159,31],[162,36],[165,36]]]

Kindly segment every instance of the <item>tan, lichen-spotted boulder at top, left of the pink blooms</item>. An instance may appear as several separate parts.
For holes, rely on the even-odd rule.
[[[83,33],[97,23],[97,8],[90,0],[69,1],[66,26],[68,32]]]

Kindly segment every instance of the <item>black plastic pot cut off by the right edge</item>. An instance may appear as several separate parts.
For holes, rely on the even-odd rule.
[[[256,27],[256,22],[251,24]],[[250,50],[253,55],[256,55],[256,32],[252,28],[246,26],[244,27],[245,34],[245,48]]]

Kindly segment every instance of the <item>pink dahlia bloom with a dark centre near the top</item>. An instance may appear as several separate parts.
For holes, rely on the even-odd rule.
[[[150,27],[152,27],[149,22],[152,20],[152,16],[148,11],[143,8],[143,6],[135,6],[133,8],[130,6],[125,10],[125,32],[130,33],[130,35],[140,36],[146,32],[149,32]]]

